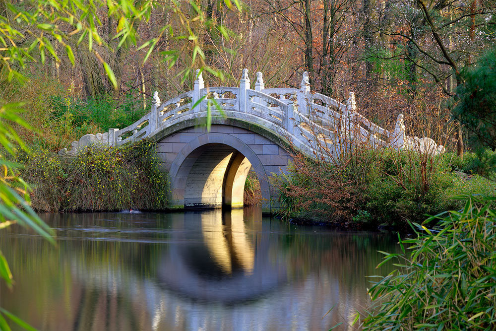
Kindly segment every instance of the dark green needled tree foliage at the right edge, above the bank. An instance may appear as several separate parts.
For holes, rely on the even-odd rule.
[[[459,78],[453,116],[471,132],[476,148],[496,148],[496,49],[464,68]]]

